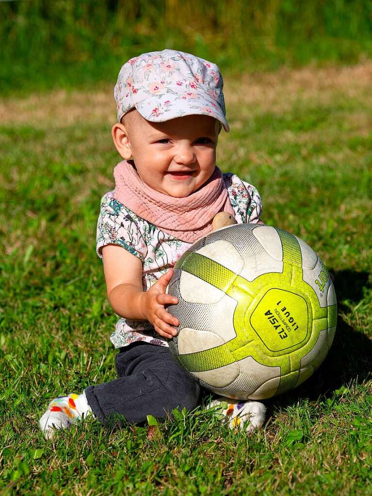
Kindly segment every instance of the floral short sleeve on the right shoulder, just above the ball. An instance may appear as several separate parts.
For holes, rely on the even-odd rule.
[[[235,218],[239,224],[256,224],[262,214],[262,202],[257,189],[236,174],[223,175]]]

